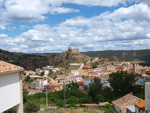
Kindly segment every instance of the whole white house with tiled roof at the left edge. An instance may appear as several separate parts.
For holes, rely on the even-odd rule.
[[[0,61],[0,113],[16,106],[23,113],[22,67]]]

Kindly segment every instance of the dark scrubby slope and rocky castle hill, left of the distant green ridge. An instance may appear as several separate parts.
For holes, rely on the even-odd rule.
[[[87,62],[90,60],[90,57],[84,54],[70,54],[68,52],[56,54],[25,54],[11,53],[0,49],[0,60],[22,66],[26,70],[34,70],[46,65],[57,65],[68,68],[70,63]]]

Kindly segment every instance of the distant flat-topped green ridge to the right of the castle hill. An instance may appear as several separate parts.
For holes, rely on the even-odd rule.
[[[120,51],[89,51],[82,52],[90,57],[111,58],[116,56],[119,60],[142,60],[150,61],[150,49],[147,50],[120,50]]]

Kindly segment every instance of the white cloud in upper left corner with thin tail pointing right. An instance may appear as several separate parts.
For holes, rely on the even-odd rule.
[[[1,6],[4,7],[1,7]],[[53,7],[49,0],[1,0],[1,20],[7,21],[44,21],[47,17],[44,14],[61,14],[79,12],[77,9],[65,7]]]

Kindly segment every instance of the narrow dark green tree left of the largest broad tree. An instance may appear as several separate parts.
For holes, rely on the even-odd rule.
[[[100,94],[102,89],[101,79],[94,78],[94,81],[89,84],[89,95],[95,101],[95,97]]]

